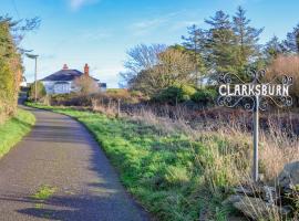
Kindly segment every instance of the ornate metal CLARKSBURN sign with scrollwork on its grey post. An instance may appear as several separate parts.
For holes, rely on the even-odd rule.
[[[275,77],[269,83],[264,83],[261,78],[266,71],[250,71],[247,73],[251,82],[246,83],[235,74],[221,74],[218,78],[219,97],[218,105],[225,107],[243,106],[252,112],[254,128],[254,162],[252,179],[255,182],[259,179],[258,171],[258,141],[259,141],[259,110],[268,109],[270,103],[278,107],[288,107],[292,105],[292,98],[289,95],[289,87],[292,85],[292,77],[282,75]]]

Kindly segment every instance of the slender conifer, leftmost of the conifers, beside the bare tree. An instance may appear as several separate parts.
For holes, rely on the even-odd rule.
[[[182,36],[182,39],[184,40],[183,45],[193,55],[196,67],[196,86],[198,86],[199,75],[203,75],[205,69],[203,57],[206,44],[206,32],[203,29],[197,28],[195,24],[187,29],[188,36]]]

